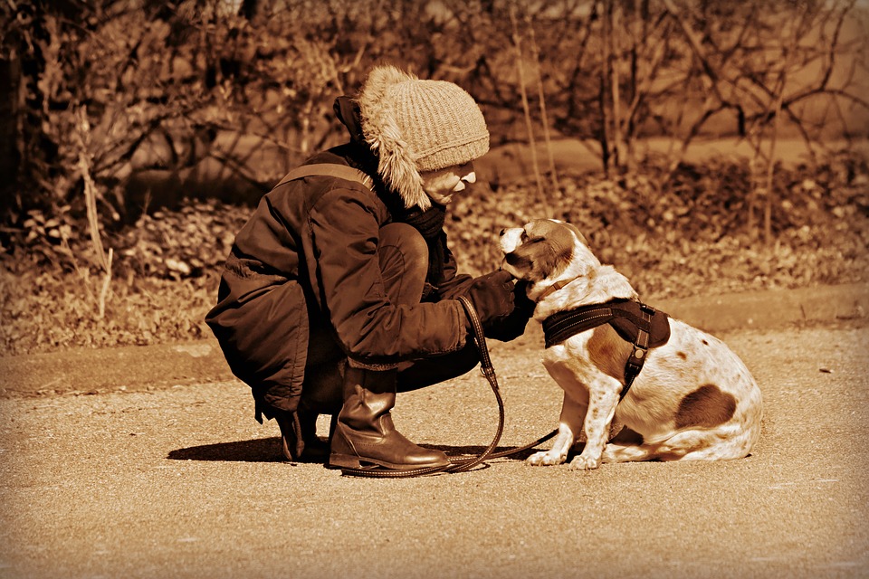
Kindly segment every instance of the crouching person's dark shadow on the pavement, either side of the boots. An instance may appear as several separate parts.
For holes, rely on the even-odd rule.
[[[446,446],[424,444],[425,448],[444,451],[452,458],[465,458],[478,456],[485,451],[485,446]],[[498,447],[493,453],[511,452],[517,447]],[[534,450],[519,451],[510,454],[505,459],[525,460]],[[217,442],[215,444],[203,444],[191,446],[185,449],[169,451],[169,460],[215,460],[223,462],[283,462],[281,450],[281,438],[259,438],[251,441]]]

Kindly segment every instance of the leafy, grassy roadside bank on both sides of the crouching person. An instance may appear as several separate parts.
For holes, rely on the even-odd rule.
[[[781,167],[771,228],[759,242],[759,206],[750,204],[742,161],[681,166],[661,188],[649,164],[620,182],[561,176],[561,190],[535,200],[519,181],[457,200],[447,223],[464,271],[499,266],[503,227],[539,217],[578,225],[597,256],[633,282],[643,299],[796,288],[866,280],[869,168],[853,156],[823,166]],[[0,355],[70,346],[147,345],[209,337],[203,318],[215,303],[221,265],[252,208],[187,200],[103,232],[114,249],[110,293],[100,317],[105,273],[91,252],[86,220],[31,216],[2,254]]]

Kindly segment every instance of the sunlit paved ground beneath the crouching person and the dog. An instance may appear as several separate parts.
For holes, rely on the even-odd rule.
[[[279,460],[276,427],[253,422],[234,379],[185,370],[172,384],[172,365],[208,359],[207,343],[79,353],[74,372],[64,356],[0,360],[0,577],[869,576],[864,288],[734,297],[721,316],[740,299],[753,305],[715,333],[757,377],[764,429],[749,458],[710,464],[501,459],[345,478]],[[696,323],[692,307],[667,306]],[[539,338],[492,346],[505,447],[557,420]],[[35,387],[27,368],[53,384]],[[455,453],[490,441],[495,419],[479,375],[396,409],[402,432]]]

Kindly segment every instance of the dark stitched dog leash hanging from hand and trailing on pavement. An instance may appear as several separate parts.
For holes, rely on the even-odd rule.
[[[489,356],[489,347],[486,346],[486,337],[482,332],[480,318],[477,316],[477,312],[473,308],[471,299],[461,296],[459,297],[459,302],[461,302],[465,313],[467,313],[468,319],[471,320],[473,342],[480,353],[480,371],[492,387],[492,393],[495,394],[495,400],[498,402],[498,429],[495,431],[495,436],[492,439],[492,442],[488,447],[486,447],[486,450],[482,451],[477,456],[449,457],[450,463],[446,466],[424,467],[413,470],[382,470],[377,468],[341,469],[342,474],[346,476],[367,477],[372,479],[406,479],[410,477],[422,477],[428,474],[464,472],[483,464],[488,459],[500,459],[532,449],[541,442],[548,441],[559,432],[558,429],[556,429],[549,432],[549,434],[543,438],[517,449],[494,452],[495,448],[498,446],[498,442],[501,441],[501,434],[504,432],[504,401],[501,399],[501,390],[498,387],[498,376],[495,375],[495,368],[492,366],[492,358]]]

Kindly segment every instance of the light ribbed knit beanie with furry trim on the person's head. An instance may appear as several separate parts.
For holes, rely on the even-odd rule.
[[[407,208],[431,199],[421,171],[464,165],[489,150],[489,130],[473,97],[453,82],[423,81],[378,66],[358,95],[362,133],[378,157],[377,172]]]

